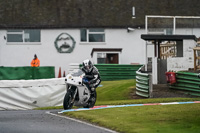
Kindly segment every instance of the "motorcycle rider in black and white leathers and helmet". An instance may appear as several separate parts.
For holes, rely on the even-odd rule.
[[[85,73],[83,78],[88,79],[88,82],[84,82],[84,84],[88,87],[92,94],[101,83],[99,71],[89,59],[83,61],[83,67],[81,70]]]

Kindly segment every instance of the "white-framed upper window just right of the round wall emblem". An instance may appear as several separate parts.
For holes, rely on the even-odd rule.
[[[105,42],[104,29],[81,29],[81,42]]]

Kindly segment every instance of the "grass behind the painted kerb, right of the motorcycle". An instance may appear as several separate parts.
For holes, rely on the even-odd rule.
[[[136,81],[118,80],[103,81],[102,87],[97,88],[97,102],[95,105],[121,105],[139,103],[162,103],[162,102],[184,102],[195,101],[200,98],[144,98],[131,99],[130,93],[135,91]]]

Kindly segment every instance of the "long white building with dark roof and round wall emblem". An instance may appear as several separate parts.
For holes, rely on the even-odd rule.
[[[198,16],[200,8],[193,6],[198,4],[198,0],[0,1],[0,66],[30,66],[34,54],[41,66],[55,66],[56,76],[59,67],[68,72],[70,64],[84,59],[95,64],[146,64],[147,57],[155,55],[141,39],[149,34],[145,16]],[[156,34],[173,34],[166,32],[173,29],[173,21],[171,26],[165,24],[168,20],[164,24],[157,20],[148,23],[164,29]],[[177,21],[176,34],[199,37],[197,20]]]

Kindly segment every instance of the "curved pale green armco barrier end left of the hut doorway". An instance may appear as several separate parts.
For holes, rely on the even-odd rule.
[[[141,67],[142,68],[142,67]],[[136,94],[142,97],[152,97],[152,78],[148,73],[136,71]]]

